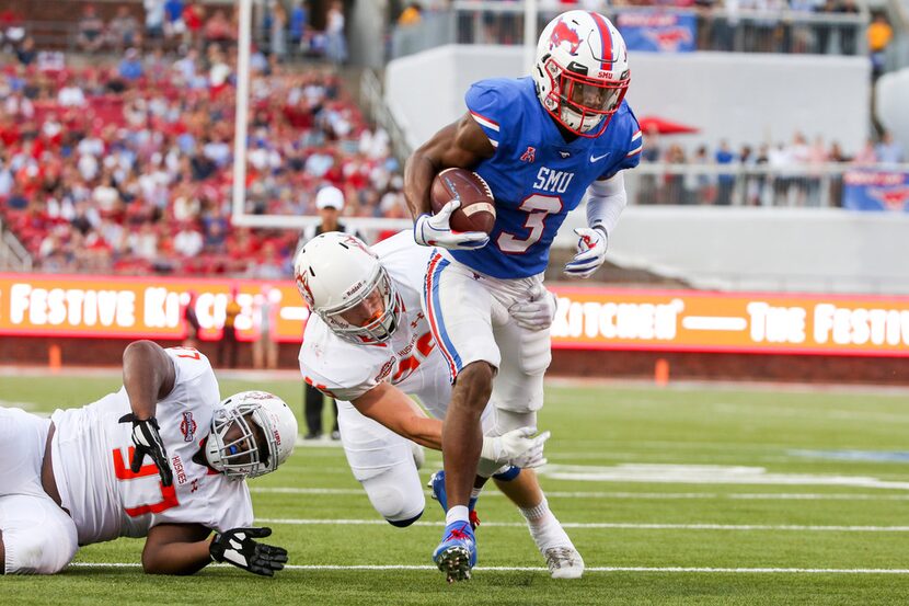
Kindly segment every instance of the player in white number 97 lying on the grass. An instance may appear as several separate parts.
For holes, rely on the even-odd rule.
[[[220,401],[195,350],[137,341],[123,361],[124,387],[87,407],[50,419],[0,408],[0,572],[54,574],[79,546],[117,537],[146,537],[148,573],[191,574],[212,559],[283,569],[287,551],[255,540],[271,529],[251,527],[245,478],[290,456],[287,404],[263,391]]]

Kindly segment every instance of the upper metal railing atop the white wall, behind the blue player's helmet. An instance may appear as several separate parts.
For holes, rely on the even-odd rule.
[[[699,50],[738,53],[809,53],[865,55],[867,8],[858,13],[809,13],[802,11],[759,11],[753,9],[670,9],[606,7],[601,12],[613,23],[622,15],[645,13],[693,15]],[[537,31],[560,11],[541,9]],[[522,3],[460,0],[451,10],[425,12],[416,24],[398,26],[392,32],[391,58],[402,57],[444,44],[523,44]],[[536,42],[536,41],[534,41]]]

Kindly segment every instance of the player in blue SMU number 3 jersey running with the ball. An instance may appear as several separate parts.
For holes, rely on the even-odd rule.
[[[540,35],[531,77],[474,83],[468,112],[407,161],[414,239],[437,247],[424,305],[453,382],[442,434],[449,508],[433,556],[449,581],[469,578],[476,561],[468,519],[474,477],[491,471],[477,469],[484,407],[494,403],[504,433],[536,426],[543,404],[557,301],[542,279],[555,233],[587,194],[588,227],[575,230],[577,254],[565,273],[589,277],[625,206],[621,171],[637,165],[643,147],[624,102],[629,82],[628,49],[612,23],[565,12]],[[457,199],[430,215],[433,179],[451,167],[488,183],[496,206],[488,236],[450,229]]]

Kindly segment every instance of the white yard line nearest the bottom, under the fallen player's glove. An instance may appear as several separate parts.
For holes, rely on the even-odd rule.
[[[130,562],[73,562],[72,568],[139,568]],[[231,568],[229,564],[210,564],[209,568]],[[287,564],[285,570],[418,570],[438,572],[434,565],[413,564]],[[542,572],[542,567],[476,567],[476,572]],[[676,572],[718,574],[909,574],[899,568],[701,568],[701,567],[588,567],[584,572]]]

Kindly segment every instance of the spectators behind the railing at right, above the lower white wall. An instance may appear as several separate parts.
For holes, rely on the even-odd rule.
[[[666,144],[657,133],[649,132],[641,160],[660,164],[664,171],[641,176],[635,202],[838,206],[842,171],[829,173],[827,187],[821,188],[826,167],[882,168],[907,161],[906,150],[886,132],[878,142],[868,139],[853,156],[844,153],[837,141],[827,144],[822,137],[809,141],[802,133],[795,133],[789,142],[743,145],[737,151],[727,141],[713,150],[706,145],[691,149],[688,152],[679,142]],[[724,172],[726,168],[729,172]]]

